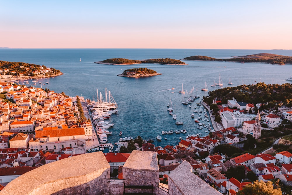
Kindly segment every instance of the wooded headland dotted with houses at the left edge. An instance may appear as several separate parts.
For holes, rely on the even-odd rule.
[[[1,78],[35,78],[62,75],[60,70],[24,62],[0,61]]]

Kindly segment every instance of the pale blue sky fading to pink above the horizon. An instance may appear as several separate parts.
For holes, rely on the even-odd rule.
[[[0,47],[292,49],[291,0],[0,0]]]

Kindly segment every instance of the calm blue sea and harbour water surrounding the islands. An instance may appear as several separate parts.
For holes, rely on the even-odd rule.
[[[215,49],[0,49],[0,60],[34,63],[61,70],[64,75],[43,79],[40,82],[49,82],[46,86],[50,90],[69,96],[84,96],[96,100],[96,89],[105,98],[105,87],[110,90],[119,108],[117,114],[112,114],[111,122],[115,125],[110,131],[110,142],[117,142],[119,132],[123,137],[152,138],[155,146],[177,144],[179,137],[187,134],[202,133],[206,128],[199,130],[194,119],[191,118],[194,108],[181,104],[185,95],[178,94],[183,87],[190,91],[194,87],[194,94],[204,96],[202,92],[205,82],[208,90],[214,80],[218,82],[219,73],[223,80],[223,87],[231,79],[232,86],[265,82],[267,84],[282,84],[292,75],[292,65],[270,65],[260,63],[231,63],[231,62],[204,62],[185,61],[188,65],[101,65],[95,61],[108,58],[149,59],[173,58],[182,59],[188,56],[210,56],[214,58],[230,58],[258,53],[272,53],[292,56],[292,50],[215,50]],[[81,62],[79,61],[81,58]],[[148,78],[118,77],[125,69],[149,68],[162,75]],[[32,82],[30,81],[30,84]],[[41,87],[40,84],[38,84]],[[174,87],[174,90],[171,88]],[[171,93],[174,92],[174,93]],[[201,99],[201,98],[200,98]],[[168,114],[166,105],[171,100],[175,108],[177,120],[184,125],[175,125],[175,120]],[[199,102],[197,99],[192,105]],[[202,109],[202,108],[201,108]],[[195,118],[198,118],[196,114]],[[211,122],[205,122],[211,123]],[[161,135],[161,131],[187,130],[186,134]],[[156,136],[161,135],[162,140],[157,142]],[[163,139],[164,137],[167,140]]]

